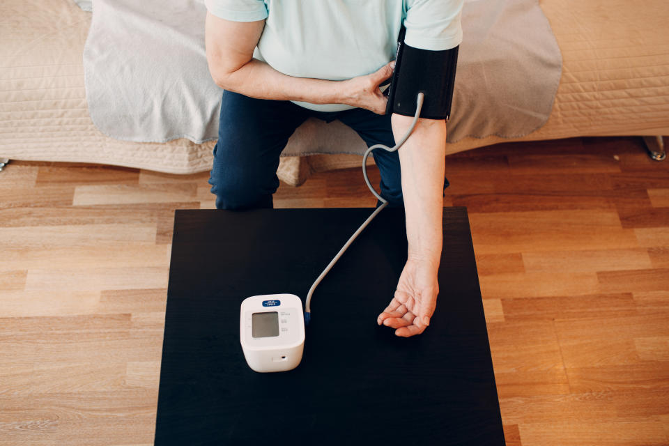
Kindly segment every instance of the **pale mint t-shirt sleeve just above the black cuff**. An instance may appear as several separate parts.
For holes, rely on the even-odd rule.
[[[408,0],[404,42],[433,51],[460,45],[462,6],[463,0]]]

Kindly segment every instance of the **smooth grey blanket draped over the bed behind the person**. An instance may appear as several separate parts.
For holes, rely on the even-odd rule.
[[[103,133],[139,142],[217,138],[222,90],[207,68],[205,15],[203,0],[93,0],[86,98]],[[448,141],[541,127],[562,58],[538,0],[466,0],[462,23]]]

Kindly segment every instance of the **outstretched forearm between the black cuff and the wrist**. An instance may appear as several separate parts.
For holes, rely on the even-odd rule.
[[[392,131],[399,141],[413,118],[393,114]],[[406,236],[410,259],[439,266],[443,243],[442,215],[446,152],[446,123],[420,118],[399,149]]]

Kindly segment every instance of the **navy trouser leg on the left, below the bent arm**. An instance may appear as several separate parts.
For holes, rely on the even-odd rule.
[[[224,91],[209,184],[218,209],[271,208],[279,155],[306,109]]]

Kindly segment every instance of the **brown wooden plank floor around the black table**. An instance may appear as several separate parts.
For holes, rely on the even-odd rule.
[[[500,144],[448,157],[447,177],[507,445],[669,445],[669,160],[636,138]],[[152,443],[173,213],[212,208],[207,179],[0,173],[0,445]],[[275,199],[374,203],[358,169]]]

